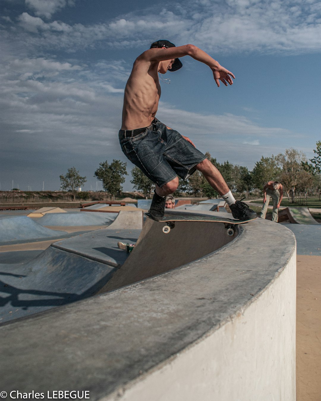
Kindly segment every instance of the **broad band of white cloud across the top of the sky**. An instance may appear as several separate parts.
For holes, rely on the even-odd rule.
[[[43,0],[28,0],[37,8],[36,17],[24,12],[19,21],[24,30],[42,32],[38,46],[51,46],[74,51],[86,47],[146,47],[154,38],[171,32],[174,43],[193,43],[208,52],[306,53],[320,51],[321,16],[317,0],[299,2],[232,1],[212,3],[189,2],[183,9],[176,5],[171,12],[166,4],[155,18],[146,9],[101,24],[67,24],[45,22],[39,16]],[[49,0],[48,0],[49,1]],[[49,7],[50,5],[50,7]],[[65,6],[65,0],[48,3],[48,9]],[[49,11],[48,11],[49,12]],[[50,14],[50,13],[49,13]],[[152,20],[152,24],[150,21]],[[34,46],[28,38],[20,38]]]

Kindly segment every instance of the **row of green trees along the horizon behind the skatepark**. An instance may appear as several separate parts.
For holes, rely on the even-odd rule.
[[[217,162],[209,152],[205,156],[221,172],[223,178],[232,192],[250,196],[259,195],[263,186],[269,180],[279,181],[283,185],[284,194],[288,200],[295,201],[296,192],[305,192],[310,195],[318,194],[321,190],[321,141],[313,150],[315,157],[307,159],[302,151],[293,148],[286,149],[284,154],[264,157],[255,163],[252,171],[245,166],[232,164],[229,161]],[[138,167],[131,170],[133,188],[144,196],[150,196],[154,190],[154,183],[150,181]],[[110,164],[106,160],[99,164],[94,177],[102,181],[102,186],[112,199],[122,192],[125,176],[128,175],[126,163],[113,160]],[[60,176],[61,189],[71,190],[75,193],[78,187],[86,182],[86,177],[81,177],[75,167],[69,168],[65,176]],[[199,171],[190,176],[186,181],[179,179],[179,186],[174,196],[191,195],[214,198],[218,193],[209,185]]]

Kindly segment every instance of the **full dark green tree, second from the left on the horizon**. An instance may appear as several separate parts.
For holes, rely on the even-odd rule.
[[[106,162],[100,163],[99,166],[94,176],[102,181],[104,190],[114,199],[115,195],[120,194],[123,189],[120,184],[125,182],[124,175],[128,175],[126,163],[114,159],[110,164],[106,160]]]

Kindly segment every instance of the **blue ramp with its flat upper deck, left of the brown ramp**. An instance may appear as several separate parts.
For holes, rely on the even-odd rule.
[[[25,263],[0,264],[0,323],[94,295],[130,255],[117,242],[136,243],[140,231],[91,231],[58,241]]]

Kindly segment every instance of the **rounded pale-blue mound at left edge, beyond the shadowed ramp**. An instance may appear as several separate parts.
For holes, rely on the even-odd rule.
[[[0,219],[0,242],[61,238],[61,236],[65,237],[66,233],[43,227],[26,216],[12,216]]]

